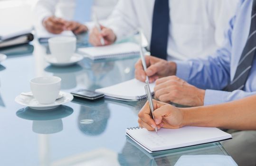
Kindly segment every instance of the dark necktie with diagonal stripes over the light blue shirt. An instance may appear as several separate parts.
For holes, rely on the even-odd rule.
[[[246,46],[237,65],[234,79],[224,91],[242,90],[247,81],[256,54],[256,0],[253,1],[251,26]]]

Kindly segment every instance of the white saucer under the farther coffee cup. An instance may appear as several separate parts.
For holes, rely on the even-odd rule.
[[[50,63],[51,65],[55,65],[55,66],[69,66],[69,65],[74,65],[77,62],[81,61],[84,59],[83,55],[80,54],[74,54],[70,60],[68,62],[57,62],[56,58],[52,55],[47,55],[45,56],[45,59],[48,63]]]

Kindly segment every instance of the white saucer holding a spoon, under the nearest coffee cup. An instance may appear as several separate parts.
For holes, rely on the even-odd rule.
[[[34,110],[49,110],[54,109],[61,104],[72,101],[74,98],[70,93],[62,91],[60,93],[63,93],[64,96],[50,104],[40,104],[33,96],[25,96],[21,94],[15,98],[15,101]]]

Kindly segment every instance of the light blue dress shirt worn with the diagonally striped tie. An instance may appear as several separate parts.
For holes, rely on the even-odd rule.
[[[204,59],[176,62],[177,76],[206,89],[204,105],[218,104],[256,94],[256,58],[243,90],[222,91],[233,79],[250,30],[253,0],[241,0],[229,22],[225,45]],[[256,35],[256,34],[255,34]]]

